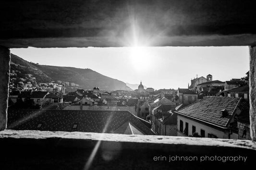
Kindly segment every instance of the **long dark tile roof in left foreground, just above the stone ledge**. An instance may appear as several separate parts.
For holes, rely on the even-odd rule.
[[[129,111],[8,109],[7,129],[113,133],[127,121],[146,135],[154,135],[150,128]]]

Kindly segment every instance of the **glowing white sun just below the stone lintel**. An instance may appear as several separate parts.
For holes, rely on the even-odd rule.
[[[137,71],[148,71],[152,66],[152,54],[150,47],[134,46],[130,47],[130,59]]]

